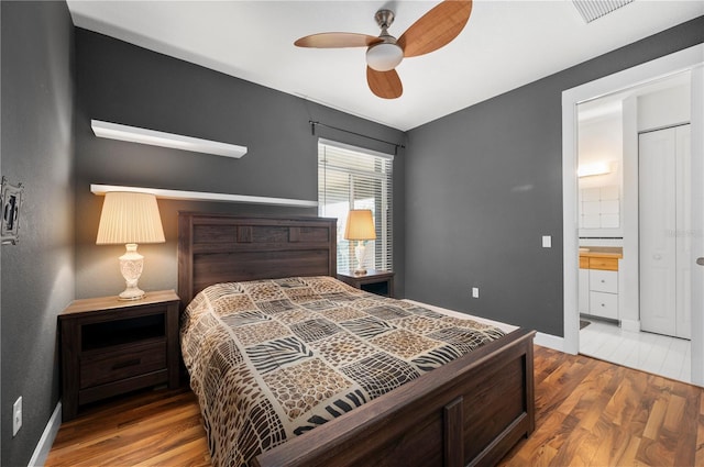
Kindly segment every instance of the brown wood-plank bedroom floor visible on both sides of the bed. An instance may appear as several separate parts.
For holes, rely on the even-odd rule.
[[[536,431],[502,460],[525,466],[704,466],[704,389],[535,348]],[[64,423],[46,466],[209,466],[187,389],[142,392]]]

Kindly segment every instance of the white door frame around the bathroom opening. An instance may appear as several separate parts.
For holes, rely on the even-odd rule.
[[[563,351],[578,354],[580,348],[580,319],[578,312],[579,220],[578,220],[578,104],[654,79],[690,70],[692,73],[692,157],[701,160],[704,154],[704,44],[657,58],[632,68],[586,82],[562,92],[562,210],[563,210]],[[697,163],[698,164],[698,163]],[[692,166],[692,171],[702,170]],[[704,171],[702,171],[704,173]],[[701,184],[692,196],[704,199]],[[704,218],[704,213],[702,214]],[[702,219],[692,219],[693,224]],[[704,244],[704,242],[697,242]],[[704,256],[704,246],[693,247],[693,255]],[[704,292],[692,290],[692,382],[704,386],[704,315],[695,312],[704,308]]]

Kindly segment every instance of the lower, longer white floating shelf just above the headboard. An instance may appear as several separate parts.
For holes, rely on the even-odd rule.
[[[95,194],[105,194],[108,191],[129,191],[138,193],[151,193],[158,199],[186,200],[186,201],[218,201],[242,202],[250,204],[288,205],[296,208],[317,208],[318,201],[296,200],[288,198],[251,197],[248,194],[208,193],[204,191],[164,190],[161,188],[119,187],[114,185],[91,185],[90,191]]]

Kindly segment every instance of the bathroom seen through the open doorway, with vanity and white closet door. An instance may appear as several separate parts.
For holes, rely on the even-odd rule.
[[[691,381],[691,241],[683,235],[690,225],[683,215],[691,192],[690,75],[578,105],[580,353],[684,382]],[[634,138],[637,144],[625,144]],[[623,260],[624,245],[638,252],[638,262]]]

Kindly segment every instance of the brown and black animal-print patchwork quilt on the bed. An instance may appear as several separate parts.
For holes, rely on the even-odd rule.
[[[263,451],[504,335],[331,277],[211,286],[188,305],[182,351],[212,464]]]

